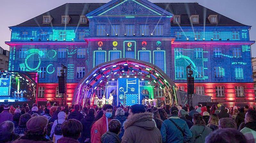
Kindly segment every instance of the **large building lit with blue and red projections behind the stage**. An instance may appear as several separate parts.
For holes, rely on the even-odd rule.
[[[198,3],[67,3],[10,27],[8,70],[37,71],[38,101],[60,101],[57,76],[65,65],[71,103],[78,82],[107,61],[153,63],[184,91],[191,64],[195,93],[213,102],[253,103],[250,28]],[[159,90],[149,97],[162,97]]]

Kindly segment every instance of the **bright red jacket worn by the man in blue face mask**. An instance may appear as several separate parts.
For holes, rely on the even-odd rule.
[[[108,122],[111,120],[111,118],[108,118]],[[102,118],[97,120],[91,128],[91,143],[100,143],[101,142],[101,136],[107,132],[107,118],[103,114]]]

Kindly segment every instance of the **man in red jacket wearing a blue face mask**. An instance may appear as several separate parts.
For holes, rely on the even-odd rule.
[[[102,110],[103,116],[92,125],[91,143],[100,143],[101,136],[108,131],[107,126],[113,114],[113,106],[110,104],[105,104]]]

